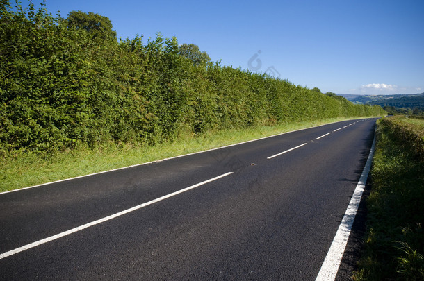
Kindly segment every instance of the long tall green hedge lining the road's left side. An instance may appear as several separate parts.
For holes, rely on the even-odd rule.
[[[154,144],[221,128],[384,114],[210,62],[176,38],[117,40],[109,19],[91,12],[63,19],[32,3],[0,5],[3,152]]]

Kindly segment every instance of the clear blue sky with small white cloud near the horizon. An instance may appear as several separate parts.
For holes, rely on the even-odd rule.
[[[322,92],[424,92],[422,0],[47,0],[46,7],[62,17],[104,15],[122,39],[175,36],[222,65]]]

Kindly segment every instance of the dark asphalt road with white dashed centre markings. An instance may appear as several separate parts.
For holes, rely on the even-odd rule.
[[[0,194],[0,279],[315,280],[374,126],[343,121]]]

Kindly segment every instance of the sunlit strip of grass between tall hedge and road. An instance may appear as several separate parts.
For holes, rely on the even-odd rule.
[[[97,148],[82,146],[54,155],[15,151],[5,155],[0,163],[0,191],[161,160],[342,120],[346,119],[324,119],[243,130],[220,130],[197,137],[188,135],[177,141],[155,146],[131,146],[128,144],[109,144]]]

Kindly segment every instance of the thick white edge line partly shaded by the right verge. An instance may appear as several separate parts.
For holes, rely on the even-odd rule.
[[[352,230],[352,225],[354,218],[357,214],[359,203],[361,202],[362,194],[364,192],[364,187],[366,185],[366,180],[368,178],[368,173],[370,172],[371,163],[373,162],[373,155],[375,150],[375,135],[373,140],[373,145],[371,146],[368,159],[364,170],[361,173],[357,187],[354,189],[352,198],[348,205],[348,209],[343,216],[343,219],[339,225],[339,229],[336,232],[336,236],[332,241],[327,256],[321,266],[320,272],[316,277],[316,281],[327,281],[335,280],[337,271],[339,271],[339,266],[341,259],[345,252],[346,244],[348,244],[348,239],[350,235],[350,230]]]

